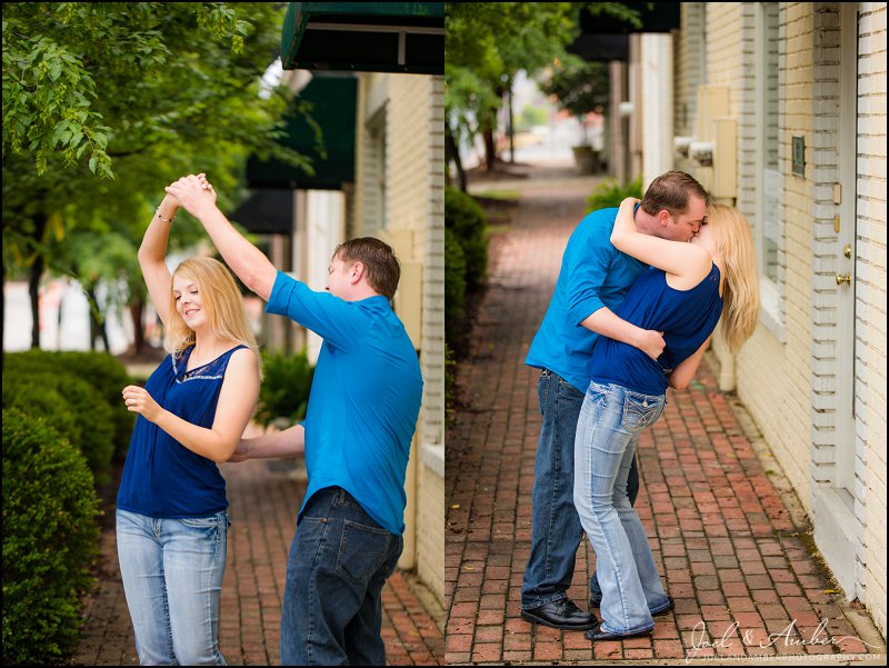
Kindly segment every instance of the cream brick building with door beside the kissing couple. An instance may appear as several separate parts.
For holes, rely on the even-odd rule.
[[[747,216],[760,269],[756,333],[735,357],[716,338],[720,386],[737,390],[847,599],[885,636],[886,3],[681,12],[660,72],[672,97],[659,100],[687,138],[677,144],[710,141],[713,162],[677,154],[671,168]],[[645,77],[639,43],[629,67]],[[641,150],[660,132],[643,131]],[[646,185],[649,162],[636,161]]]

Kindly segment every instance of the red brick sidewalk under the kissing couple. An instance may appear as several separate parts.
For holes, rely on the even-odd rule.
[[[707,365],[689,390],[670,390],[663,417],[639,442],[636,508],[676,599],[673,612],[657,619],[651,638],[595,646],[581,632],[520,618],[541,421],[539,372],[523,360],[595,182],[520,186],[512,225],[491,248],[473,349],[458,371],[465,408],[447,435],[446,662],[808,657],[842,664],[870,651],[866,662],[885,665],[886,646],[870,618],[835,594],[810,554],[792,490],[772,470],[773,459],[763,469],[759,457],[769,455],[752,421],[718,391]],[[585,539],[568,592],[581,607],[593,567]]]

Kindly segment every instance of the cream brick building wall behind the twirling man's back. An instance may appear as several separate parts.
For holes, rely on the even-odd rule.
[[[444,78],[361,73],[347,238],[389,242],[401,260],[396,311],[417,349],[423,401],[406,491],[399,565],[444,599]]]

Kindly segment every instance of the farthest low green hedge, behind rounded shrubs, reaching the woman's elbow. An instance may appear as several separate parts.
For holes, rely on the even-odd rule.
[[[98,390],[111,409],[110,422],[113,428],[114,457],[123,461],[130,446],[136,413],[127,410],[121,399],[121,390],[134,380],[127,373],[120,360],[107,352],[28,350],[3,356],[4,370],[67,369]],[[141,383],[144,385],[144,383]]]

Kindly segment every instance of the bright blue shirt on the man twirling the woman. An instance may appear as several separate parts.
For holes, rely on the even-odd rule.
[[[404,531],[404,476],[422,399],[417,351],[386,297],[346,301],[278,272],[266,311],[324,340],[303,426],[311,496],[351,493],[392,534]]]

